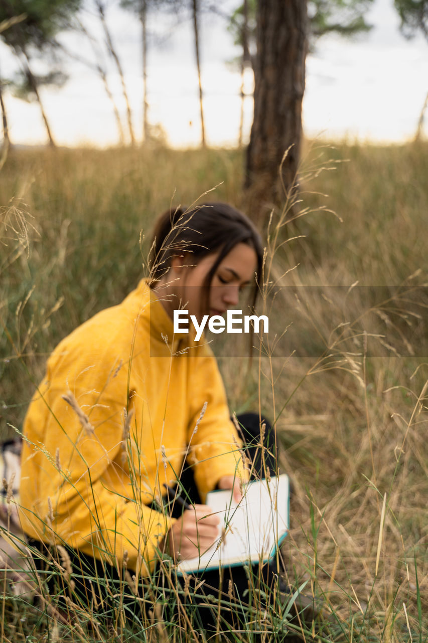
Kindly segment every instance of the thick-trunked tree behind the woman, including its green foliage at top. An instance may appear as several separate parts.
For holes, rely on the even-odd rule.
[[[242,9],[235,12],[235,42],[242,43],[243,59],[254,69],[254,120],[245,168],[254,217],[260,206],[271,208],[284,189],[290,195],[296,184],[308,48],[326,33],[351,36],[368,31],[364,12],[372,2],[247,0],[247,10],[255,8],[256,20],[245,17]],[[256,53],[251,55],[254,26]]]

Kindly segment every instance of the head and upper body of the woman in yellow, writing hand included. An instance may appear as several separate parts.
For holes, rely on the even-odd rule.
[[[117,579],[128,569],[136,586],[164,552],[194,557],[218,538],[208,491],[240,497],[247,474],[217,363],[172,318],[222,315],[246,286],[254,303],[263,248],[245,215],[211,203],[166,212],[151,257],[148,280],[53,351],[22,453],[22,525],[44,560],[65,548],[73,570]],[[199,502],[173,518],[165,485],[178,480]],[[73,584],[88,595],[84,575]]]

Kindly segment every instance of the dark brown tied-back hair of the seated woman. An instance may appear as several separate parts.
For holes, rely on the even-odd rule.
[[[202,203],[194,208],[167,210],[157,219],[150,251],[150,278],[152,283],[168,273],[171,260],[184,252],[192,253],[197,264],[202,258],[218,252],[210,272],[206,276],[206,301],[211,280],[218,265],[238,243],[254,249],[257,256],[256,275],[262,275],[263,244],[260,235],[249,218],[227,203]],[[254,282],[251,305],[257,298],[257,284]]]

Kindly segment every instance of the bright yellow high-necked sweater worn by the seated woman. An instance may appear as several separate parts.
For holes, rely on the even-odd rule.
[[[68,391],[89,424],[63,399]],[[144,280],[60,342],[31,401],[24,437],[24,531],[112,563],[127,552],[128,566],[143,574],[172,523],[147,504],[177,479],[184,458],[202,498],[221,476],[242,475],[211,350],[174,336]]]

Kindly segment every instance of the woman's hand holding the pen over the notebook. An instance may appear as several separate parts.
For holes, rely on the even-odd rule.
[[[202,556],[215,543],[219,534],[220,518],[206,505],[186,509],[165,539],[168,554],[177,560]]]

